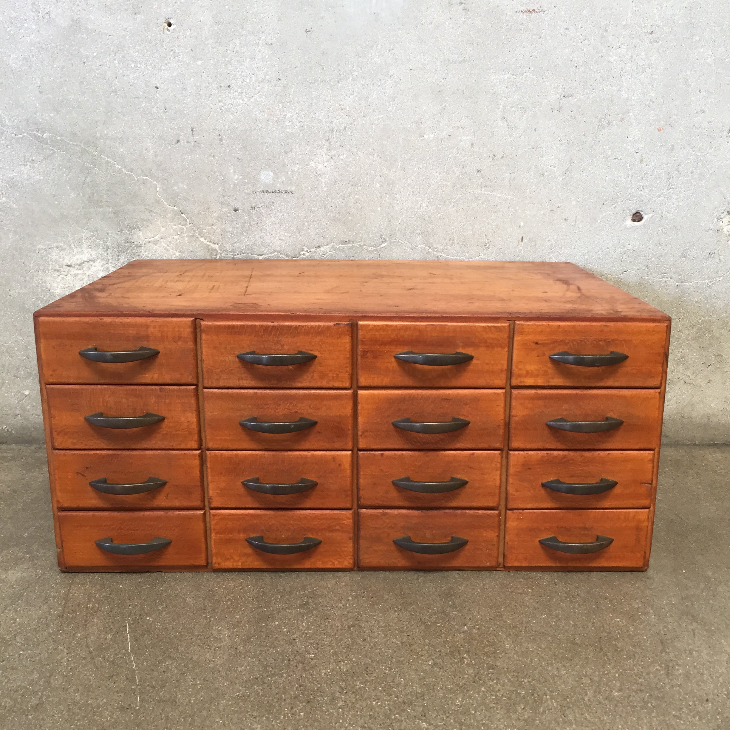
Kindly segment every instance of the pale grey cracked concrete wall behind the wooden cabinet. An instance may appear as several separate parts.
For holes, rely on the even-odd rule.
[[[730,442],[730,6],[533,2],[0,0],[0,441],[38,307],[299,257],[574,261],[674,318],[666,439]]]

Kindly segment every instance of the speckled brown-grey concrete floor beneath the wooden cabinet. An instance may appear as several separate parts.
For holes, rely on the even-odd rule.
[[[3,729],[730,728],[730,447],[665,448],[646,573],[63,574],[0,465]]]

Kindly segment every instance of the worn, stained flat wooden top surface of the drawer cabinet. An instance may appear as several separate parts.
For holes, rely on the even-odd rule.
[[[37,315],[669,319],[575,264],[245,259],[131,261]]]

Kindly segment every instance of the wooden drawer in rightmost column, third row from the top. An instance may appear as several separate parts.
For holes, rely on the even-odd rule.
[[[649,507],[653,465],[653,451],[512,451],[507,508]],[[562,484],[542,486],[554,481]]]

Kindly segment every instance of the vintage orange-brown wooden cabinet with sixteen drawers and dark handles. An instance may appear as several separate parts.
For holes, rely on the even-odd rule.
[[[648,566],[669,317],[573,264],[132,261],[36,336],[61,569]]]

